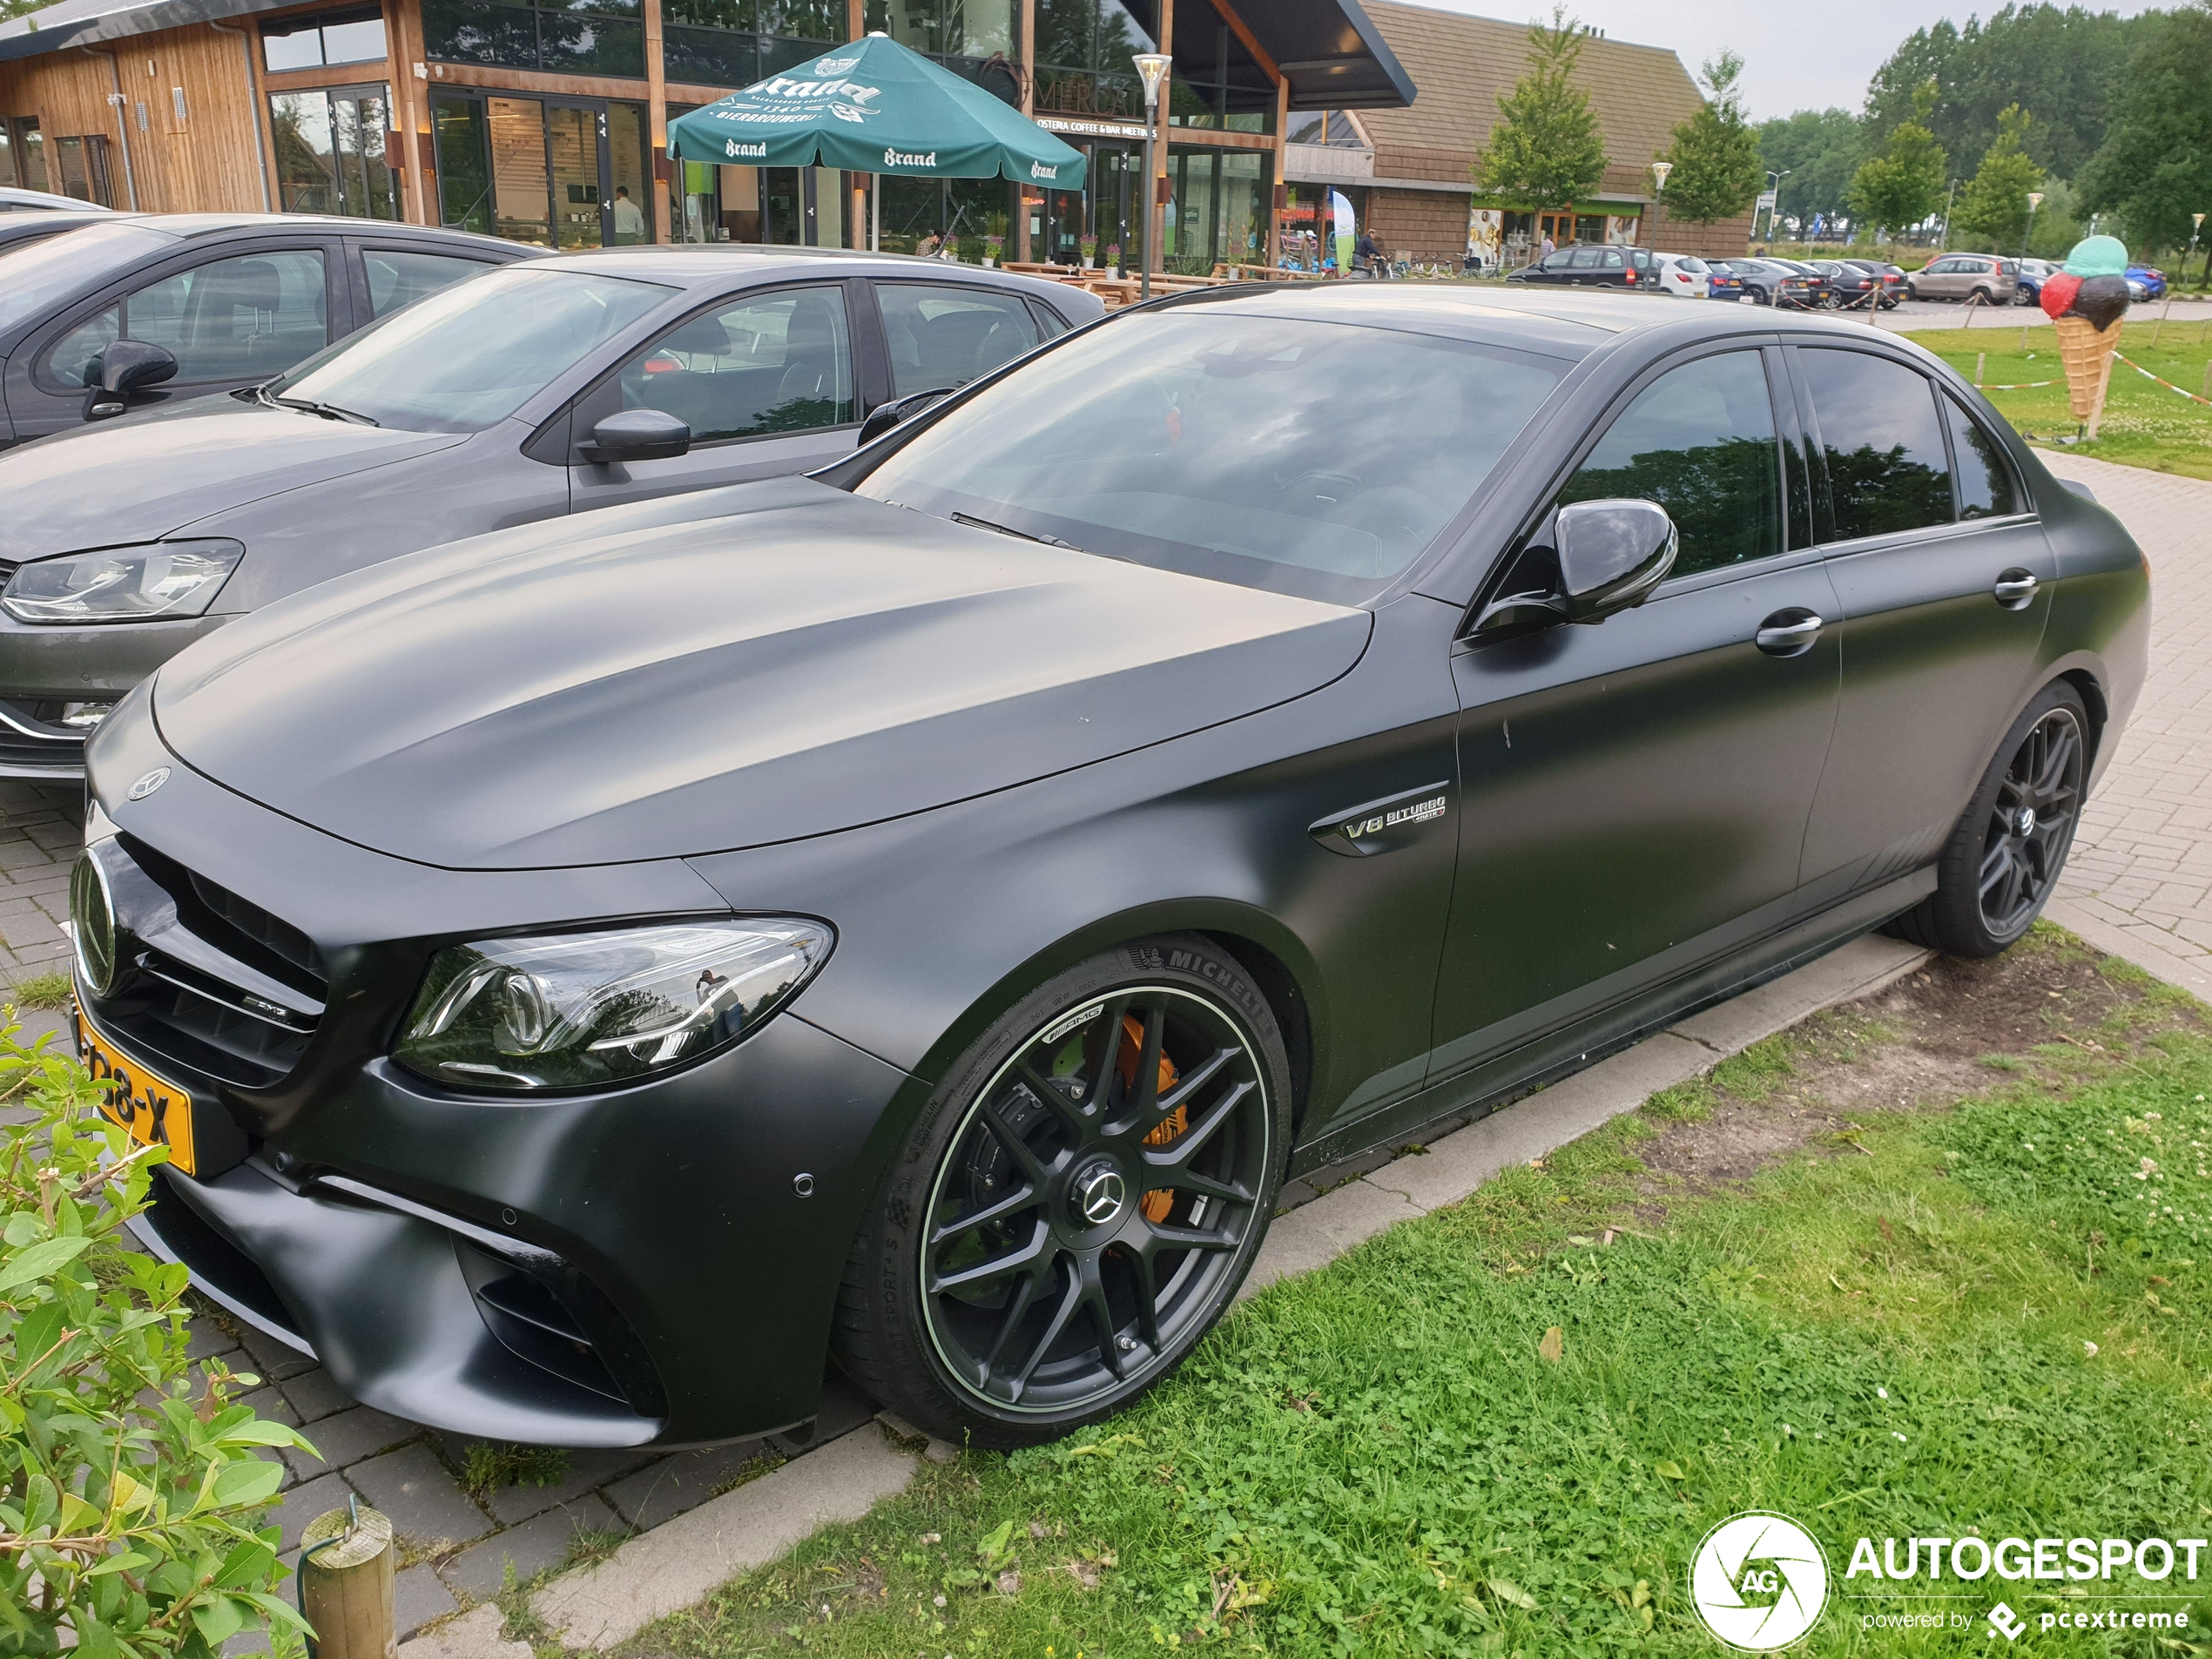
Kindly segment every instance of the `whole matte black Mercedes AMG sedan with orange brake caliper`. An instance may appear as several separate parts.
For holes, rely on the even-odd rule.
[[[2148,577],[1871,330],[1270,285],[810,478],[299,593],[91,745],[153,1248],[385,1411],[978,1444],[1285,1175],[1893,925],[2035,918]]]

